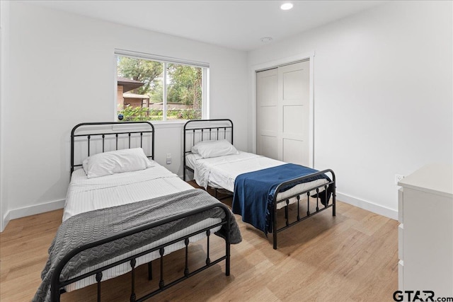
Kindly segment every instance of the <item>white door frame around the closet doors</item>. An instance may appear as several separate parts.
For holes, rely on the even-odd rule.
[[[309,72],[309,168],[314,168],[314,52],[304,54],[297,54],[292,57],[285,57],[282,59],[265,62],[251,66],[251,142],[249,146],[253,153],[256,153],[256,72],[263,69],[277,68],[278,66],[287,65],[302,61],[304,59],[310,60]]]

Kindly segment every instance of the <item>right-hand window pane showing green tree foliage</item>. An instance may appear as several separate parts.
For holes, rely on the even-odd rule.
[[[202,118],[202,69],[167,64],[167,120]]]

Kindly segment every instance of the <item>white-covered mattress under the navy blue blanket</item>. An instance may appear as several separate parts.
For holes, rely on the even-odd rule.
[[[185,163],[194,170],[195,181],[200,187],[223,188],[230,192],[234,191],[234,180],[238,175],[285,164],[283,161],[242,151],[239,151],[239,154],[213,158],[202,158],[198,154],[188,153],[185,157]],[[277,194],[277,199],[285,199],[297,194],[297,192],[304,192],[311,187],[323,185],[327,182],[326,179],[304,182],[285,192],[280,192]],[[289,199],[289,204],[294,202],[297,202],[297,199]],[[277,204],[277,209],[285,207],[285,204],[285,202],[280,202]]]

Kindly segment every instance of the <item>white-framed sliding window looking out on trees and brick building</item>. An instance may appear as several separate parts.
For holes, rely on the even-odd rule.
[[[131,52],[116,55],[118,120],[208,118],[207,64]]]

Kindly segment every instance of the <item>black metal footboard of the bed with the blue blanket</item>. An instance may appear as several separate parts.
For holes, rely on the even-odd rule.
[[[301,182],[304,182],[304,179],[307,178],[313,178],[316,175],[323,175],[326,173],[331,174],[331,181],[326,182],[322,185],[317,185],[316,187],[310,187],[307,190],[304,190],[302,192],[297,192],[292,194],[291,196],[287,196],[284,199],[279,199],[277,197],[278,193],[282,192],[285,188],[287,187],[294,187],[294,185],[297,185]],[[315,194],[313,192],[316,192]],[[320,204],[321,200],[321,195],[320,194],[325,194],[324,195],[324,203]],[[331,194],[331,198],[329,198],[329,194]],[[299,205],[301,202],[301,197],[304,197],[306,195],[306,214],[300,213]],[[297,216],[294,219],[294,221],[289,221],[289,215],[288,215],[288,205],[289,205],[289,199],[296,198],[297,199]],[[316,199],[316,208],[314,211],[310,211],[310,198],[315,198]],[[330,199],[332,202],[329,202]],[[280,202],[285,202],[285,226],[282,226],[280,228],[277,228],[277,204],[280,204]],[[336,178],[335,178],[335,173],[333,173],[333,170],[327,169],[327,170],[322,170],[316,173],[311,173],[309,175],[302,176],[300,178],[294,178],[292,180],[288,180],[286,182],[282,182],[280,185],[277,186],[275,189],[275,194],[274,194],[274,199],[273,199],[273,248],[274,250],[277,250],[277,233],[286,230],[290,226],[294,226],[294,224],[299,223],[301,221],[304,221],[305,219],[313,216],[314,214],[318,214],[321,211],[324,211],[328,208],[332,207],[332,216],[336,216]]]

